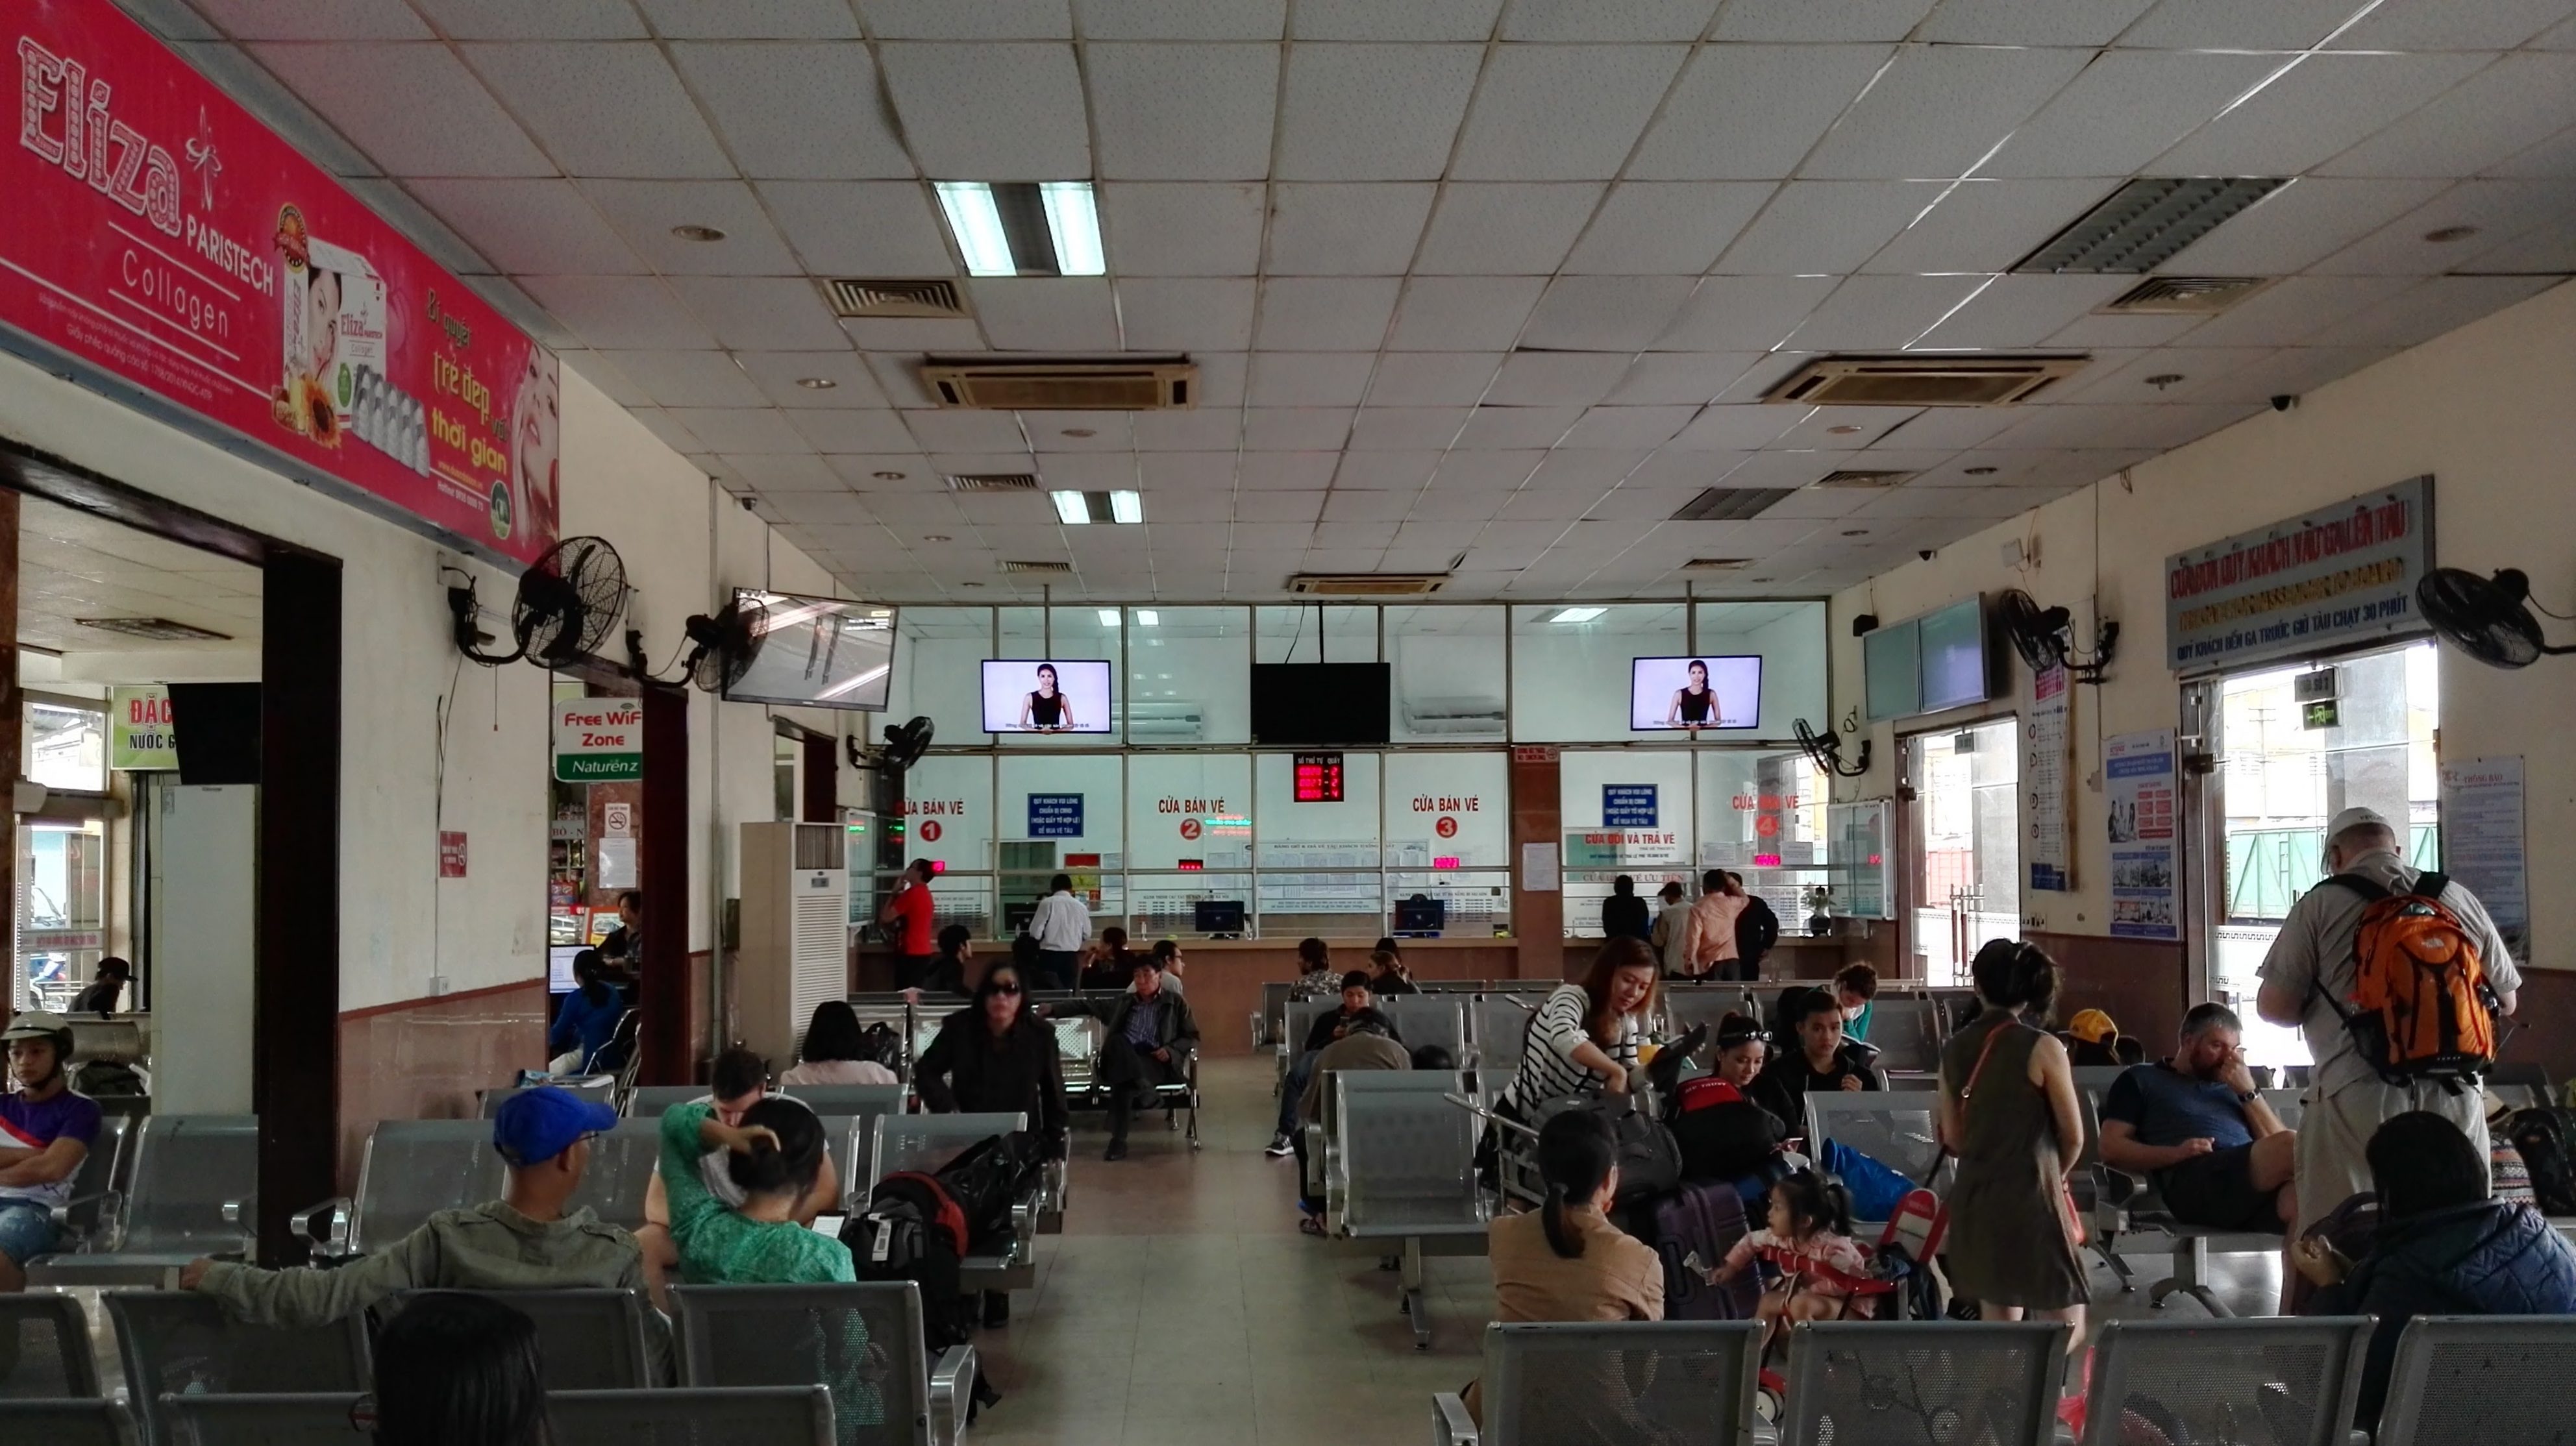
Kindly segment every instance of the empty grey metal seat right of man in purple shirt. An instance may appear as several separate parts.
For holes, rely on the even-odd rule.
[[[126,1186],[98,1201],[80,1250],[28,1260],[33,1286],[157,1286],[198,1255],[242,1255],[258,1222],[260,1121],[247,1113],[144,1116]]]

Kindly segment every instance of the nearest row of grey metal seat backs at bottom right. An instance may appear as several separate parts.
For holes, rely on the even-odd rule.
[[[2094,1340],[2081,1446],[2344,1446],[2370,1330],[2367,1317],[2107,1322]],[[1432,1441],[2058,1441],[2063,1325],[1798,1325],[1783,1402],[1765,1402],[1757,1387],[1759,1340],[1757,1322],[1494,1325],[1479,1387],[1484,1425],[1443,1392],[1432,1397]],[[2375,1441],[2566,1441],[2545,1382],[2571,1361],[2576,1317],[2416,1317],[2398,1343]],[[1772,1405],[1777,1423],[1762,1420]]]

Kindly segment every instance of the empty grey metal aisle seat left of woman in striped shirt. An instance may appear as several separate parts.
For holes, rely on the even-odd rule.
[[[1334,1075],[1347,1085],[1360,1075]],[[1455,1088],[1455,1075],[1443,1075]],[[1404,1315],[1414,1348],[1432,1348],[1425,1255],[1484,1255],[1492,1206],[1476,1186],[1476,1119],[1448,1090],[1340,1090],[1342,1214],[1347,1240],[1401,1240]]]

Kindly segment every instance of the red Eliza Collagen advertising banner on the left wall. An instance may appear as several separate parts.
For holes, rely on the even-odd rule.
[[[0,325],[484,552],[554,541],[546,348],[108,0],[0,36]]]

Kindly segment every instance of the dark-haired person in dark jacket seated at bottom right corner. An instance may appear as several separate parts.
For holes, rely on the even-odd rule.
[[[2375,1315],[2354,1425],[2375,1431],[2398,1335],[2419,1315],[2576,1315],[2576,1250],[2532,1206],[2486,1193],[2486,1160],[2458,1124],[2409,1111],[2367,1147],[2380,1232],[2347,1263],[2321,1237],[2290,1260],[2321,1289],[2306,1315]]]

